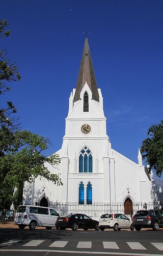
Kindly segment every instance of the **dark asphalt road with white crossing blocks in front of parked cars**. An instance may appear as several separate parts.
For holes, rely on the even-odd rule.
[[[0,254],[163,256],[163,230],[84,231],[0,228]]]

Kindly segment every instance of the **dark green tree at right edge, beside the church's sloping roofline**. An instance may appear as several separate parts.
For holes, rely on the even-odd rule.
[[[163,172],[163,120],[151,125],[147,136],[141,146],[142,157],[149,164],[149,172],[154,169],[156,175],[160,177]]]

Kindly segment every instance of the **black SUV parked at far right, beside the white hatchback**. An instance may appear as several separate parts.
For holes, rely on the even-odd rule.
[[[158,230],[159,227],[163,227],[163,213],[158,210],[138,210],[132,217],[132,224],[137,231],[142,227]]]

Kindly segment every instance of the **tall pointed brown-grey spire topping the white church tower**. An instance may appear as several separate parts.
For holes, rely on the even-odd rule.
[[[77,84],[76,84],[76,91],[75,91],[73,102],[80,99],[80,92],[82,91],[86,82],[88,83],[88,86],[92,92],[92,99],[99,101],[96,77],[93,69],[93,62],[91,58],[91,52],[90,52],[87,37],[85,39],[82,60],[80,62],[80,68],[79,68]]]

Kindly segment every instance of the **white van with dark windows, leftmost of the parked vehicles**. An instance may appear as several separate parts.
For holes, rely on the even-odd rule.
[[[34,205],[20,205],[16,210],[14,224],[18,225],[21,229],[25,226],[29,226],[30,229],[35,229],[36,226],[51,229],[56,226],[56,220],[58,217],[59,214],[53,208]]]

